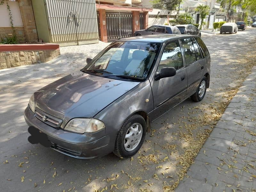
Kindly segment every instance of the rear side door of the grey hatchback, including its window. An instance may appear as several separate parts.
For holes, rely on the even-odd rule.
[[[202,78],[202,70],[205,68],[202,55],[192,37],[180,39],[185,55],[188,72],[188,91],[186,97],[194,94]]]

